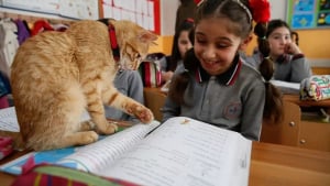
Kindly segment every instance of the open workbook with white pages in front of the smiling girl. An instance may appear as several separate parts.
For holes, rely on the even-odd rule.
[[[161,124],[135,124],[96,143],[33,152],[0,167],[20,171],[30,155],[48,162],[139,185],[228,185],[249,183],[252,141],[189,118]],[[20,173],[19,173],[20,174]]]

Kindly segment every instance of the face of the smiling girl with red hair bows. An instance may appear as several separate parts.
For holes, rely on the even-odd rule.
[[[212,76],[229,69],[242,43],[242,39],[228,29],[232,24],[228,19],[209,18],[196,25],[195,55]]]

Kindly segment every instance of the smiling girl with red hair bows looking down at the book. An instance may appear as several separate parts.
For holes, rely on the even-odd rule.
[[[253,20],[270,18],[268,1],[252,1],[200,2],[194,48],[172,79],[163,122],[189,117],[260,140],[263,118],[282,119],[280,92],[268,81],[272,72],[261,74],[239,56],[251,41]]]

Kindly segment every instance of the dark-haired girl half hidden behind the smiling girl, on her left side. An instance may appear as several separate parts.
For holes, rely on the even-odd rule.
[[[186,52],[193,47],[191,40],[189,39],[189,34],[193,32],[193,29],[194,20],[188,18],[182,23],[178,31],[174,34],[170,56],[163,57],[161,59],[163,83],[170,80],[177,66],[183,63]]]

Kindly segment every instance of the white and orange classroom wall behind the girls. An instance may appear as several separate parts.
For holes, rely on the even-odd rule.
[[[287,1],[270,0],[272,19],[286,19]],[[161,0],[162,32],[158,45],[153,46],[151,52],[170,54],[176,17],[175,11],[179,4],[177,2],[178,0]],[[170,13],[168,10],[170,10]],[[299,34],[299,46],[308,57],[314,73],[330,75],[330,29],[297,30],[297,32]],[[253,36],[251,44],[246,48],[246,53],[251,54],[255,46],[256,40]]]

